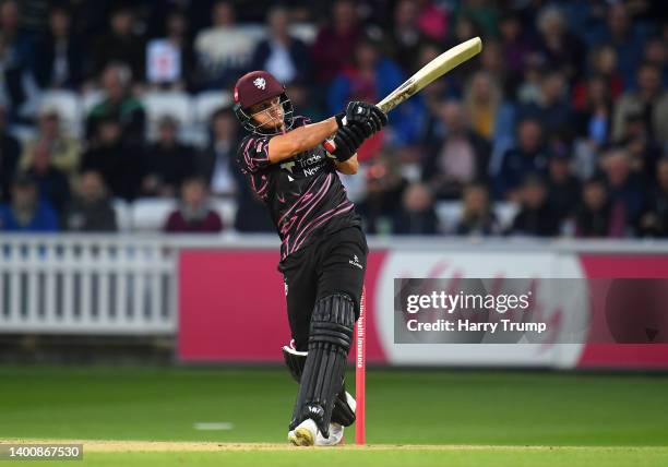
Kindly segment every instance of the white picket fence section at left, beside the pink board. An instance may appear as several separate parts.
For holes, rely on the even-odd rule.
[[[174,334],[176,288],[156,238],[0,237],[0,333]]]

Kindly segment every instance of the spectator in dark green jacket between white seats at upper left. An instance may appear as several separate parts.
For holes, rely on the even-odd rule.
[[[91,110],[86,120],[86,137],[97,134],[97,125],[103,119],[115,119],[122,129],[123,140],[133,145],[144,141],[146,116],[142,103],[130,95],[130,69],[111,64],[102,75],[105,98]]]

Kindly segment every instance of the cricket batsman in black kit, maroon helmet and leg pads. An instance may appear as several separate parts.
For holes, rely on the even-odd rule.
[[[237,164],[281,237],[278,271],[293,335],[283,352],[299,382],[288,441],[338,444],[344,427],[355,422],[344,375],[368,248],[337,172],[357,172],[358,147],[387,117],[371,104],[351,101],[345,112],[311,123],[294,115],[285,87],[266,71],[241,76],[234,103],[249,132]],[[323,142],[332,135],[336,148],[330,154]]]

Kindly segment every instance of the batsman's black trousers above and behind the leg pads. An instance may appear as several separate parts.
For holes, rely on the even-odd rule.
[[[288,320],[297,350],[306,351],[309,325],[315,302],[334,294],[346,294],[355,301],[355,318],[359,318],[367,240],[359,227],[348,227],[323,235],[310,246],[283,260]]]

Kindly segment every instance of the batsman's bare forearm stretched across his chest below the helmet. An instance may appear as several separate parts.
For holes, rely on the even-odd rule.
[[[336,133],[338,127],[336,118],[332,117],[272,137],[269,143],[270,164],[289,159],[299,153],[312,149]]]

